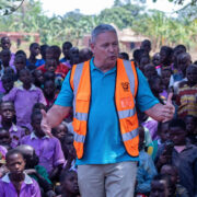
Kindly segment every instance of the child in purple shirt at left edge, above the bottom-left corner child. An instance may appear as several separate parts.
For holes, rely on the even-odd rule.
[[[24,130],[14,124],[15,109],[12,102],[5,101],[0,103],[1,124],[0,127],[9,130],[11,137],[11,147],[15,148],[20,144]]]

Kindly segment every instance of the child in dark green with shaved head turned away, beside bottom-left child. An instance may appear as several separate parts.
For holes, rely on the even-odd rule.
[[[19,150],[23,154],[25,159],[25,173],[39,184],[40,192],[45,193],[46,197],[51,197],[51,194],[55,196],[48,173],[44,166],[38,165],[39,158],[36,155],[35,150],[27,144],[19,146],[15,150]]]

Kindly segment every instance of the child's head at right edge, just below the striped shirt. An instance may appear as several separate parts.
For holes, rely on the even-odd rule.
[[[186,130],[188,135],[197,135],[197,118],[193,115],[187,115],[184,118],[185,125],[186,125]]]

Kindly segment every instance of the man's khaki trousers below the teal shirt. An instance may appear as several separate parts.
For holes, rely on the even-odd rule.
[[[81,197],[134,197],[137,162],[79,165]]]

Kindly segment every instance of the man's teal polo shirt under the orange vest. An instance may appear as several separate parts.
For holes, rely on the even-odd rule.
[[[121,140],[118,116],[115,106],[116,67],[107,72],[101,71],[91,59],[91,103],[88,132],[83,158],[78,165],[109,164],[124,161],[138,161],[130,157]],[[138,73],[138,93],[136,103],[140,111],[151,108],[159,101],[153,96],[142,72]],[[70,72],[67,74],[56,105],[72,106],[73,92],[70,88]]]

